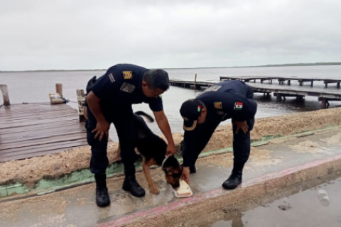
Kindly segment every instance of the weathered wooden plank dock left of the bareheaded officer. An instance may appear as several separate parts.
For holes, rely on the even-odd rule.
[[[50,155],[87,145],[85,123],[66,104],[0,107],[0,162]]]

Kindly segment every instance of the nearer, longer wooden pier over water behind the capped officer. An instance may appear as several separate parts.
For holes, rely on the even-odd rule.
[[[260,77],[254,77],[260,79]],[[254,80],[254,78],[252,80]],[[275,77],[267,77],[274,79]],[[278,77],[277,77],[278,78]],[[245,79],[245,78],[244,78]],[[243,80],[244,80],[243,79]],[[242,80],[242,79],[241,79]],[[255,93],[263,93],[269,95],[273,93],[276,96],[277,101],[281,99],[286,99],[286,96],[295,96],[298,99],[303,99],[304,96],[316,96],[318,101],[321,101],[321,108],[324,109],[329,106],[328,101],[341,101],[341,91],[337,89],[323,89],[317,87],[299,87],[299,86],[283,86],[282,84],[264,84],[264,83],[250,83],[247,79],[247,84],[249,84]],[[217,82],[196,82],[197,89],[211,87]],[[191,88],[194,87],[194,82],[185,81],[180,79],[170,79],[170,84],[177,87]]]

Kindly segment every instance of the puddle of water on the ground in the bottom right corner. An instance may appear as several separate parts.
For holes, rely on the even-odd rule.
[[[332,179],[332,180],[330,180]],[[341,176],[315,179],[288,188],[281,199],[268,204],[215,211],[180,226],[197,227],[340,227]],[[292,192],[292,193],[291,193]],[[278,197],[277,197],[278,198]]]

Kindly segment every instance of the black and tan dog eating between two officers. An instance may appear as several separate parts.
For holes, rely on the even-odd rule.
[[[180,186],[180,178],[183,173],[182,168],[178,160],[174,156],[169,156],[165,160],[167,143],[165,140],[155,135],[150,128],[148,128],[146,122],[141,117],[144,116],[148,121],[153,122],[153,118],[143,111],[137,111],[134,114],[134,121],[137,132],[137,142],[136,148],[139,153],[144,157],[144,162],[142,164],[144,168],[144,174],[151,189],[154,194],[158,193],[158,189],[154,186],[151,179],[150,167],[151,165],[162,166],[163,172],[166,175],[166,182],[171,184],[175,189]]]

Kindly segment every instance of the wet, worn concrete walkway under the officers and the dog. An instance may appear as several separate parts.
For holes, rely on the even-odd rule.
[[[271,140],[269,145],[252,148],[250,160],[244,170],[242,187],[249,187],[259,177],[274,172],[285,175],[293,167],[308,166],[307,163],[310,162],[322,163],[323,160],[332,158],[335,160],[341,155],[340,148],[341,129],[303,138]],[[190,178],[194,196],[187,200],[174,197],[173,190],[166,184],[160,169],[152,171],[153,181],[161,191],[158,195],[150,193],[144,174],[138,174],[138,181],[146,189],[146,196],[141,199],[121,190],[123,177],[109,179],[112,205],[104,209],[98,208],[94,203],[94,184],[27,199],[0,200],[0,226],[124,226],[138,218],[165,213],[172,207],[193,204],[195,199],[202,199],[213,192],[238,194],[242,189],[220,192],[221,184],[229,176],[231,167],[232,153],[198,160],[197,173]]]

